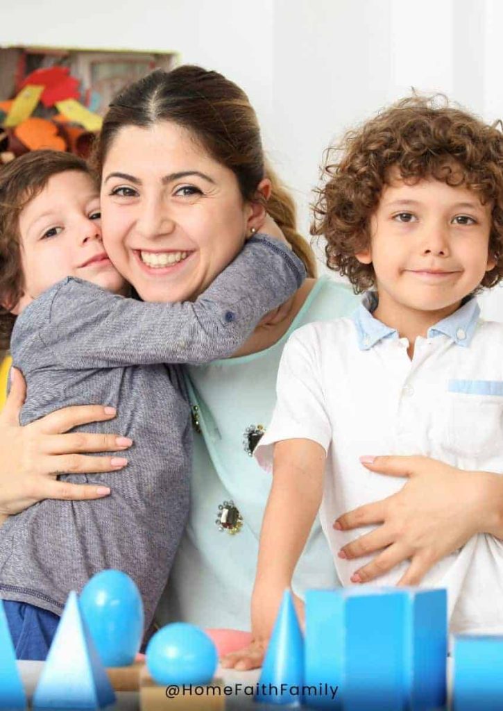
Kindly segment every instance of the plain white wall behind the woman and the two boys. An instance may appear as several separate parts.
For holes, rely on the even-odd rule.
[[[411,87],[503,117],[502,27],[501,0],[17,0],[0,44],[175,50],[221,71],[256,107],[307,232],[323,149]],[[503,320],[503,289],[485,302]]]

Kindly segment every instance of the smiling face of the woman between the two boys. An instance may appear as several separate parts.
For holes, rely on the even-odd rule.
[[[241,250],[257,205],[186,129],[124,127],[102,174],[104,247],[144,301],[195,299]]]

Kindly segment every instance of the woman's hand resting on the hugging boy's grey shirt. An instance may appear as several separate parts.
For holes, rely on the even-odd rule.
[[[58,474],[91,474],[122,469],[124,457],[85,456],[82,452],[124,451],[132,442],[115,434],[68,432],[80,424],[115,417],[113,407],[65,407],[21,427],[26,397],[23,375],[13,368],[11,392],[0,414],[0,514],[19,513],[44,498],[72,501],[108,496],[109,488],[58,481]]]

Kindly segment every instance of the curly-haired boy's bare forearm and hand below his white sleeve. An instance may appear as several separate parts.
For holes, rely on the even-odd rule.
[[[325,449],[310,439],[274,445],[274,477],[260,534],[259,561],[252,596],[252,642],[227,654],[225,668],[261,666],[281,597],[308,540],[323,493]],[[296,598],[303,616],[303,603]]]

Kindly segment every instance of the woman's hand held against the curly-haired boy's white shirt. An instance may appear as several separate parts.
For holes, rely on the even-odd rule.
[[[352,560],[380,551],[352,576],[369,582],[404,560],[411,565],[399,585],[417,585],[441,558],[476,533],[501,535],[503,478],[485,471],[465,471],[424,456],[362,457],[379,474],[406,476],[398,493],[360,506],[337,518],[334,528],[351,530],[381,524],[342,547],[340,557]]]

